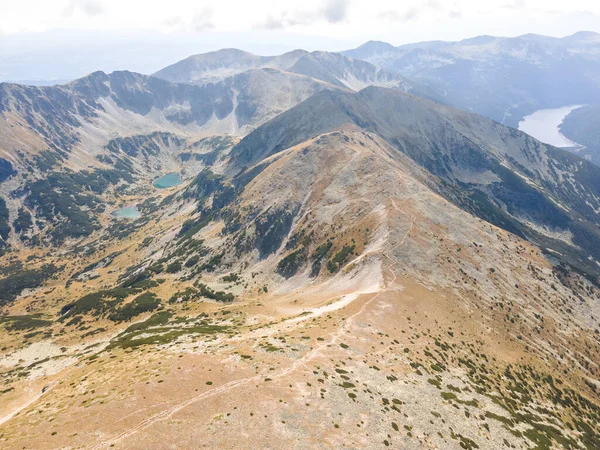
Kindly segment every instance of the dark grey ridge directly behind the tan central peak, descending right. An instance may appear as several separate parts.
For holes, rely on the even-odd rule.
[[[435,111],[434,115],[431,115],[432,111]],[[435,128],[431,125],[424,127],[425,123],[435,124]],[[234,167],[252,166],[279,151],[319,134],[344,129],[350,124],[378,134],[439,177],[442,182],[438,182],[438,193],[455,204],[469,208],[471,200],[469,196],[463,198],[464,192],[453,198],[454,194],[449,194],[453,191],[449,190],[452,186],[456,193],[471,192],[470,195],[475,196],[472,198],[483,195],[487,200],[480,199],[481,203],[471,205],[475,208],[471,211],[508,231],[528,236],[538,244],[544,242],[554,251],[565,252],[564,244],[567,247],[573,245],[555,240],[556,230],[553,228],[564,228],[567,223],[554,203],[560,205],[562,202],[566,206],[584,192],[589,195],[587,201],[590,204],[600,199],[600,185],[593,181],[600,179],[600,169],[591,163],[566,151],[545,146],[525,133],[502,127],[489,119],[377,87],[366,88],[357,94],[326,92],[316,95],[246,136],[233,147],[230,158]],[[512,145],[507,140],[512,140]],[[452,149],[444,148],[450,143]],[[430,150],[425,150],[427,147]],[[260,152],[256,153],[258,150]],[[519,176],[509,175],[507,168]],[[565,174],[572,171],[568,177],[571,179],[569,183],[574,183],[573,191],[562,187],[565,175],[558,176],[559,170]],[[528,184],[518,181],[519,177],[527,180]],[[512,187],[504,192],[504,188],[495,188],[495,183],[510,183]],[[534,206],[536,203],[538,205]],[[529,212],[520,216],[528,208],[531,208]],[[598,225],[594,208],[588,209],[576,200],[566,209],[587,217],[585,220],[591,221],[591,228],[586,231],[579,227],[577,221],[567,226],[575,227],[571,229],[575,253],[565,256],[565,262],[579,269],[587,267],[583,270],[596,276],[598,272],[593,265],[587,264],[588,255],[579,247],[597,248],[590,239],[600,242],[600,234],[596,233],[596,237],[590,234]],[[513,215],[515,212],[516,216]],[[533,216],[527,217],[527,214]],[[531,223],[535,222],[538,224],[531,228]],[[546,227],[548,229],[544,231]],[[599,257],[599,254],[594,256],[595,259]]]

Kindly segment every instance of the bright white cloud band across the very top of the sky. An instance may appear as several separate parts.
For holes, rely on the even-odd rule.
[[[560,14],[556,14],[556,12]],[[568,34],[600,14],[597,0],[0,0],[0,30],[264,33],[366,41],[477,34]],[[552,16],[549,18],[548,16]],[[398,23],[402,27],[398,27]],[[600,31],[600,22],[592,22]],[[243,42],[242,42],[243,43]]]

